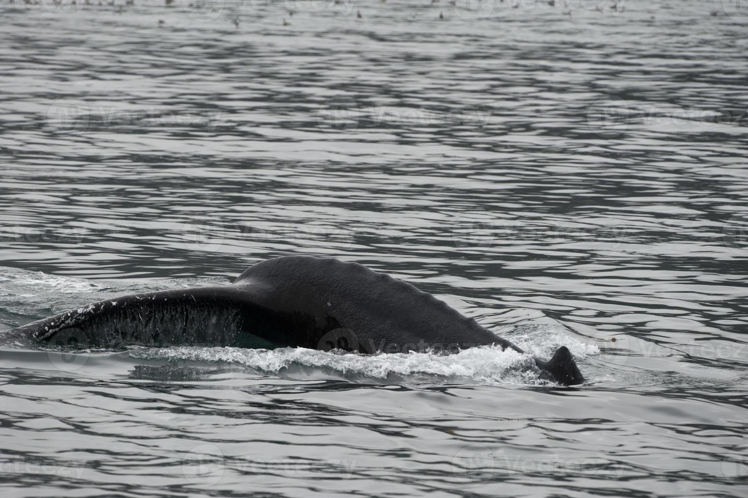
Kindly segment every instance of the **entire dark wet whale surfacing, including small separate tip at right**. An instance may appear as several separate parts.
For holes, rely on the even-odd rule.
[[[361,264],[287,256],[255,264],[233,285],[132,294],[21,327],[58,344],[209,344],[400,353],[498,344],[523,351],[413,285]],[[582,383],[560,347],[536,359],[548,377]]]

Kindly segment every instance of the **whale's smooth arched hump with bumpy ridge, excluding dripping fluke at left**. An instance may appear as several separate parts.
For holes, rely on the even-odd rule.
[[[249,267],[234,284],[253,289],[261,306],[312,317],[319,330],[336,330],[362,352],[509,345],[431,294],[358,263],[274,258]]]

